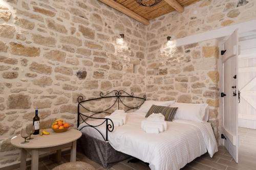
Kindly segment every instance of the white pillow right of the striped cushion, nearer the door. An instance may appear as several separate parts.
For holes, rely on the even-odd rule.
[[[170,107],[178,107],[174,120],[184,119],[202,123],[208,121],[208,104],[174,103]]]

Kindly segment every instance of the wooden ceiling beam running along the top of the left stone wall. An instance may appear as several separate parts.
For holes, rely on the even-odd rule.
[[[114,0],[99,0],[99,1],[124,13],[125,15],[130,16],[131,18],[134,18],[135,20],[143,23],[146,26],[150,25],[150,21],[148,21],[147,19],[143,18],[142,16],[136,14],[135,12],[131,11],[130,9],[125,8],[121,4],[115,2]]]

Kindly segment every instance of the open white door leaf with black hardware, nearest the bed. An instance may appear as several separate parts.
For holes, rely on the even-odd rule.
[[[223,125],[224,145],[238,162],[238,32],[224,42],[223,64]]]

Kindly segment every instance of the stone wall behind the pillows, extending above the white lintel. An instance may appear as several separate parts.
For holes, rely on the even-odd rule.
[[[203,0],[151,20],[146,32],[146,92],[155,100],[208,103],[219,139],[219,72],[216,40],[174,47],[183,38],[256,18],[256,0]]]

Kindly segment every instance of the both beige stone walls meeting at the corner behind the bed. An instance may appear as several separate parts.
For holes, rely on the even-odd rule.
[[[255,6],[256,0],[203,0],[144,26],[96,0],[1,0],[0,167],[18,162],[10,138],[36,108],[41,127],[55,117],[76,124],[78,95],[113,89],[208,103],[218,139],[217,41],[164,42],[255,19]]]

